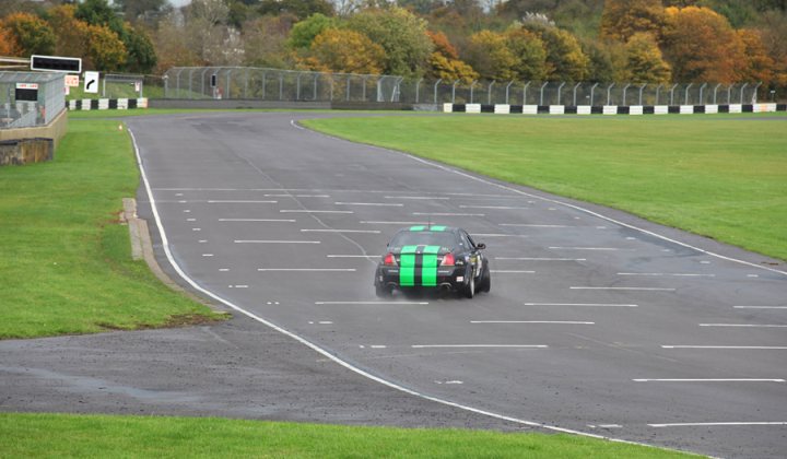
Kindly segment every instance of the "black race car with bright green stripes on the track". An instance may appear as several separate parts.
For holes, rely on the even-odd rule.
[[[377,296],[389,296],[395,291],[439,290],[472,298],[477,292],[489,292],[492,279],[488,259],[481,252],[484,248],[457,227],[400,229],[377,264]]]

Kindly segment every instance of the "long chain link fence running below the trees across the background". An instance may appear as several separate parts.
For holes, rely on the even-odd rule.
[[[249,67],[176,67],[162,78],[166,98],[404,104],[706,105],[751,104],[759,83],[568,83],[406,80]]]

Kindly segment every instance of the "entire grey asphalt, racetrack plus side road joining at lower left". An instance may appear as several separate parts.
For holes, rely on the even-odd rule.
[[[0,409],[543,425],[784,457],[783,263],[332,139],[299,128],[303,116],[128,125],[179,269],[322,353],[242,314],[192,329],[7,341]],[[410,222],[460,225],[485,243],[492,292],[376,298],[377,257]]]

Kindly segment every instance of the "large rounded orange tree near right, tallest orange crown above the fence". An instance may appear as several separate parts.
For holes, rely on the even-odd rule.
[[[674,81],[736,82],[743,52],[741,38],[723,15],[707,8],[667,9],[663,54]]]

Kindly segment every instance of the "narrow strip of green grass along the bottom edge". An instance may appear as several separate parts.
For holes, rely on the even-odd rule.
[[[688,458],[569,435],[223,419],[0,414],[3,457]]]

